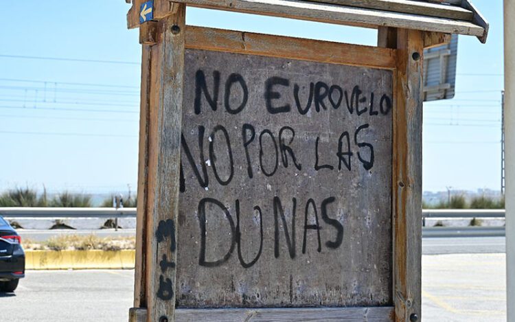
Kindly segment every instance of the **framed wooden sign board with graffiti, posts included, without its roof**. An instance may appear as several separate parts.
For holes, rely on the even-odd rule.
[[[422,32],[365,47],[184,14],[141,25],[131,319],[416,321]]]

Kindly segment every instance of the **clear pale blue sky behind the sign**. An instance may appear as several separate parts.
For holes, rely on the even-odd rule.
[[[474,4],[490,22],[488,43],[460,36],[455,98],[424,104],[426,191],[500,188],[503,3]],[[3,16],[0,31],[0,191],[135,189],[141,47],[137,30],[126,29],[129,5],[32,0],[8,7],[13,14]],[[187,23],[363,45],[376,45],[377,34],[198,9],[188,9]]]

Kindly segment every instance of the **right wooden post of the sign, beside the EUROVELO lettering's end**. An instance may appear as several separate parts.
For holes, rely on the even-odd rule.
[[[378,45],[398,49],[393,99],[393,303],[396,321],[420,321],[424,33],[380,28]]]

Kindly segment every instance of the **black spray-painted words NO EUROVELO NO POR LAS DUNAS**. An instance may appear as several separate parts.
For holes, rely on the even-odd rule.
[[[227,117],[233,117],[242,113],[247,108],[249,102],[249,86],[247,81],[239,73],[231,73],[222,82],[220,71],[213,71],[212,74],[205,73],[199,69],[194,78],[194,102],[193,111],[195,115],[201,115],[205,111],[217,111],[217,113],[228,113]],[[209,86],[208,84],[211,84]],[[306,84],[304,84],[306,85]],[[301,93],[304,91],[304,93]],[[289,93],[288,93],[289,91]],[[235,96],[234,93],[238,93]],[[182,133],[181,148],[183,162],[181,162],[180,191],[186,192],[185,168],[191,171],[192,178],[202,188],[208,189],[209,185],[216,181],[220,186],[230,185],[233,179],[240,176],[248,177],[249,180],[258,180],[258,176],[275,176],[280,168],[294,170],[312,169],[315,172],[352,172],[363,168],[371,170],[376,162],[374,155],[374,141],[367,139],[374,130],[370,124],[375,117],[385,117],[391,113],[391,96],[385,93],[376,94],[374,92],[363,93],[362,89],[356,85],[350,89],[343,89],[338,84],[327,84],[326,82],[308,82],[307,86],[290,82],[287,78],[273,76],[263,84],[262,102],[263,113],[269,115],[281,115],[283,113],[296,113],[297,115],[308,115],[308,113],[328,113],[328,111],[341,111],[345,115],[360,117],[363,115],[363,122],[358,125],[343,126],[339,132],[339,139],[332,142],[334,150],[326,148],[328,143],[321,140],[320,136],[312,141],[312,146],[307,150],[312,156],[312,162],[306,163],[299,159],[301,152],[306,153],[306,143],[296,145],[300,140],[299,134],[295,131],[293,124],[279,127],[262,128],[256,130],[255,125],[249,120],[240,124],[240,132],[236,136],[231,136],[229,125],[216,124],[215,126],[196,125],[196,133],[192,130],[194,139],[188,139],[189,135]],[[291,97],[292,102],[288,102],[285,97]],[[222,108],[223,106],[223,108]],[[253,106],[255,107],[255,106]],[[222,110],[222,111],[220,111]],[[366,119],[365,119],[366,117]],[[262,127],[262,126],[260,126]],[[277,130],[279,128],[279,130]],[[239,131],[239,130],[238,130]],[[321,129],[322,132],[322,129]],[[196,134],[196,135],[195,135]],[[296,137],[297,135],[297,137]],[[321,149],[321,145],[325,148]],[[216,149],[215,146],[218,148]],[[297,146],[297,150],[295,148]],[[299,146],[303,150],[298,150]],[[223,147],[220,150],[220,147]],[[329,150],[329,153],[327,152]],[[321,151],[325,151],[325,154]],[[220,158],[217,154],[224,154]],[[244,155],[243,165],[237,164],[234,155]],[[205,160],[209,160],[209,165]],[[185,164],[183,164],[185,163]],[[258,172],[253,165],[259,164]],[[208,170],[210,168],[211,170]],[[220,169],[224,169],[220,173]],[[283,198],[284,199],[284,198]],[[297,200],[290,198],[282,200],[279,196],[271,198],[269,216],[264,216],[262,208],[255,205],[253,210],[258,214],[260,221],[260,243],[257,253],[251,260],[244,260],[242,240],[245,238],[240,228],[240,199],[236,199],[234,207],[225,205],[216,198],[201,198],[198,202],[198,222],[201,232],[200,251],[198,264],[205,267],[216,267],[226,263],[237,250],[238,261],[243,268],[249,268],[258,262],[263,251],[264,228],[273,227],[273,242],[275,258],[281,256],[280,244],[284,241],[288,255],[295,259],[298,255],[297,246],[297,215],[304,214],[304,230],[301,232],[302,245],[301,253],[307,251],[307,235],[312,231],[316,233],[316,251],[321,253],[323,247],[332,250],[338,249],[343,242],[344,227],[342,222],[336,219],[336,214],[331,211],[333,203],[337,203],[335,196],[326,196],[320,200],[308,198],[308,200]],[[246,203],[247,200],[242,200]],[[215,255],[207,254],[207,220],[206,209],[217,209],[220,218],[227,220],[230,233],[227,235],[227,249],[223,255],[215,258]],[[334,207],[334,205],[333,205]],[[264,209],[264,208],[263,208]],[[288,216],[285,216],[288,211]],[[300,213],[300,214],[299,214]],[[320,214],[320,218],[319,218]],[[270,222],[264,222],[264,218],[273,218]],[[310,220],[308,220],[310,219]],[[224,220],[224,219],[220,219]],[[308,224],[308,222],[310,222]],[[173,222],[172,222],[173,224]],[[165,231],[163,227],[162,231]],[[210,260],[207,260],[207,258]],[[173,263],[168,263],[163,255],[161,270],[165,271]],[[174,264],[173,264],[174,265]],[[167,281],[162,281],[163,286]]]

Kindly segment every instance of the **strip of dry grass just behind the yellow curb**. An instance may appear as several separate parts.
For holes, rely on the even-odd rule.
[[[30,250],[51,250],[64,251],[76,250],[87,251],[98,249],[102,251],[119,251],[122,249],[135,249],[136,238],[134,237],[106,237],[100,238],[97,235],[60,235],[52,237],[43,242],[22,240],[23,248]]]

